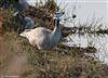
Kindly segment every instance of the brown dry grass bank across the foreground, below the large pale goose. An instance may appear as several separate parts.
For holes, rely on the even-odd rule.
[[[3,75],[18,75],[19,78],[108,77],[107,65],[84,55],[84,52],[96,52],[94,48],[82,49],[58,46],[57,50],[39,51],[14,31],[3,36],[2,47],[0,48],[2,48],[0,49],[2,50],[2,52],[0,51],[0,64],[2,66],[0,72]],[[14,61],[18,63],[18,66]]]

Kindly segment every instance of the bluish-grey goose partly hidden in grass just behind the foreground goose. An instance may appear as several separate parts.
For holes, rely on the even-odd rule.
[[[19,22],[21,22],[21,24],[22,24],[22,27],[19,27],[19,28],[22,28],[22,29],[33,29],[35,28],[35,21],[31,18],[31,17],[29,17],[29,16],[24,16],[24,15],[22,15],[22,14],[15,14],[14,15],[15,16],[15,18],[16,20],[18,20]]]

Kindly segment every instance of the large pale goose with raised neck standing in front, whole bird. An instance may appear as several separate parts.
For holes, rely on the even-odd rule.
[[[64,12],[56,12],[54,15],[55,27],[53,30],[38,27],[35,29],[26,29],[21,34],[22,37],[28,39],[31,46],[37,47],[39,50],[49,50],[56,46],[60,40],[62,32],[59,21],[60,17],[64,15]]]

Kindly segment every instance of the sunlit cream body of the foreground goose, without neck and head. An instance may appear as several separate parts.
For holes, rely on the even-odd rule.
[[[51,34],[52,30],[44,27],[38,27],[28,31],[24,31],[21,34],[21,36],[26,37],[33,47],[37,46],[38,49],[44,50],[53,47]]]

